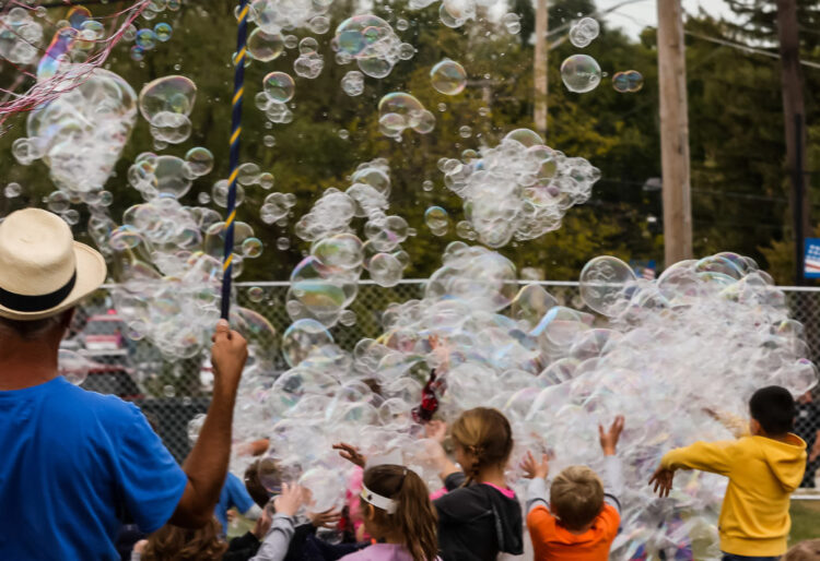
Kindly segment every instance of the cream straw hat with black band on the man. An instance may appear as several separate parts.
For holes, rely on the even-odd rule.
[[[74,241],[62,218],[39,208],[0,223],[0,317],[40,320],[74,306],[105,282],[105,260]]]

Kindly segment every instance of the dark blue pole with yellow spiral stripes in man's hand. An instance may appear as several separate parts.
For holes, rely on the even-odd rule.
[[[222,263],[222,317],[231,313],[231,277],[233,273],[234,223],[236,222],[236,176],[239,172],[239,138],[242,136],[242,96],[245,93],[245,43],[248,32],[248,2],[239,1],[239,27],[234,56],[234,98],[231,116],[231,177],[227,179],[227,218],[225,219],[225,259]]]

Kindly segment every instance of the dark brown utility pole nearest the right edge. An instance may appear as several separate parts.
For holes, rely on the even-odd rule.
[[[786,132],[786,162],[792,177],[792,226],[795,235],[795,285],[804,284],[804,243],[811,231],[808,192],[803,172],[806,162],[806,108],[800,73],[800,41],[796,0],[777,0],[777,37],[781,44],[783,120]]]

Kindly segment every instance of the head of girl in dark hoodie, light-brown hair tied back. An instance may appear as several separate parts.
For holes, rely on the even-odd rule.
[[[484,467],[504,466],[513,452],[513,429],[497,409],[476,407],[453,425],[456,459],[471,480]]]

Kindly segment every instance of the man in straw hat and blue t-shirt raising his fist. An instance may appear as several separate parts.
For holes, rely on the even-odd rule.
[[[105,261],[37,208],[0,224],[0,559],[119,559],[128,515],[150,533],[203,525],[227,473],[245,339],[220,321],[214,387],[179,467],[140,410],[58,374],[74,306],[103,284]]]

